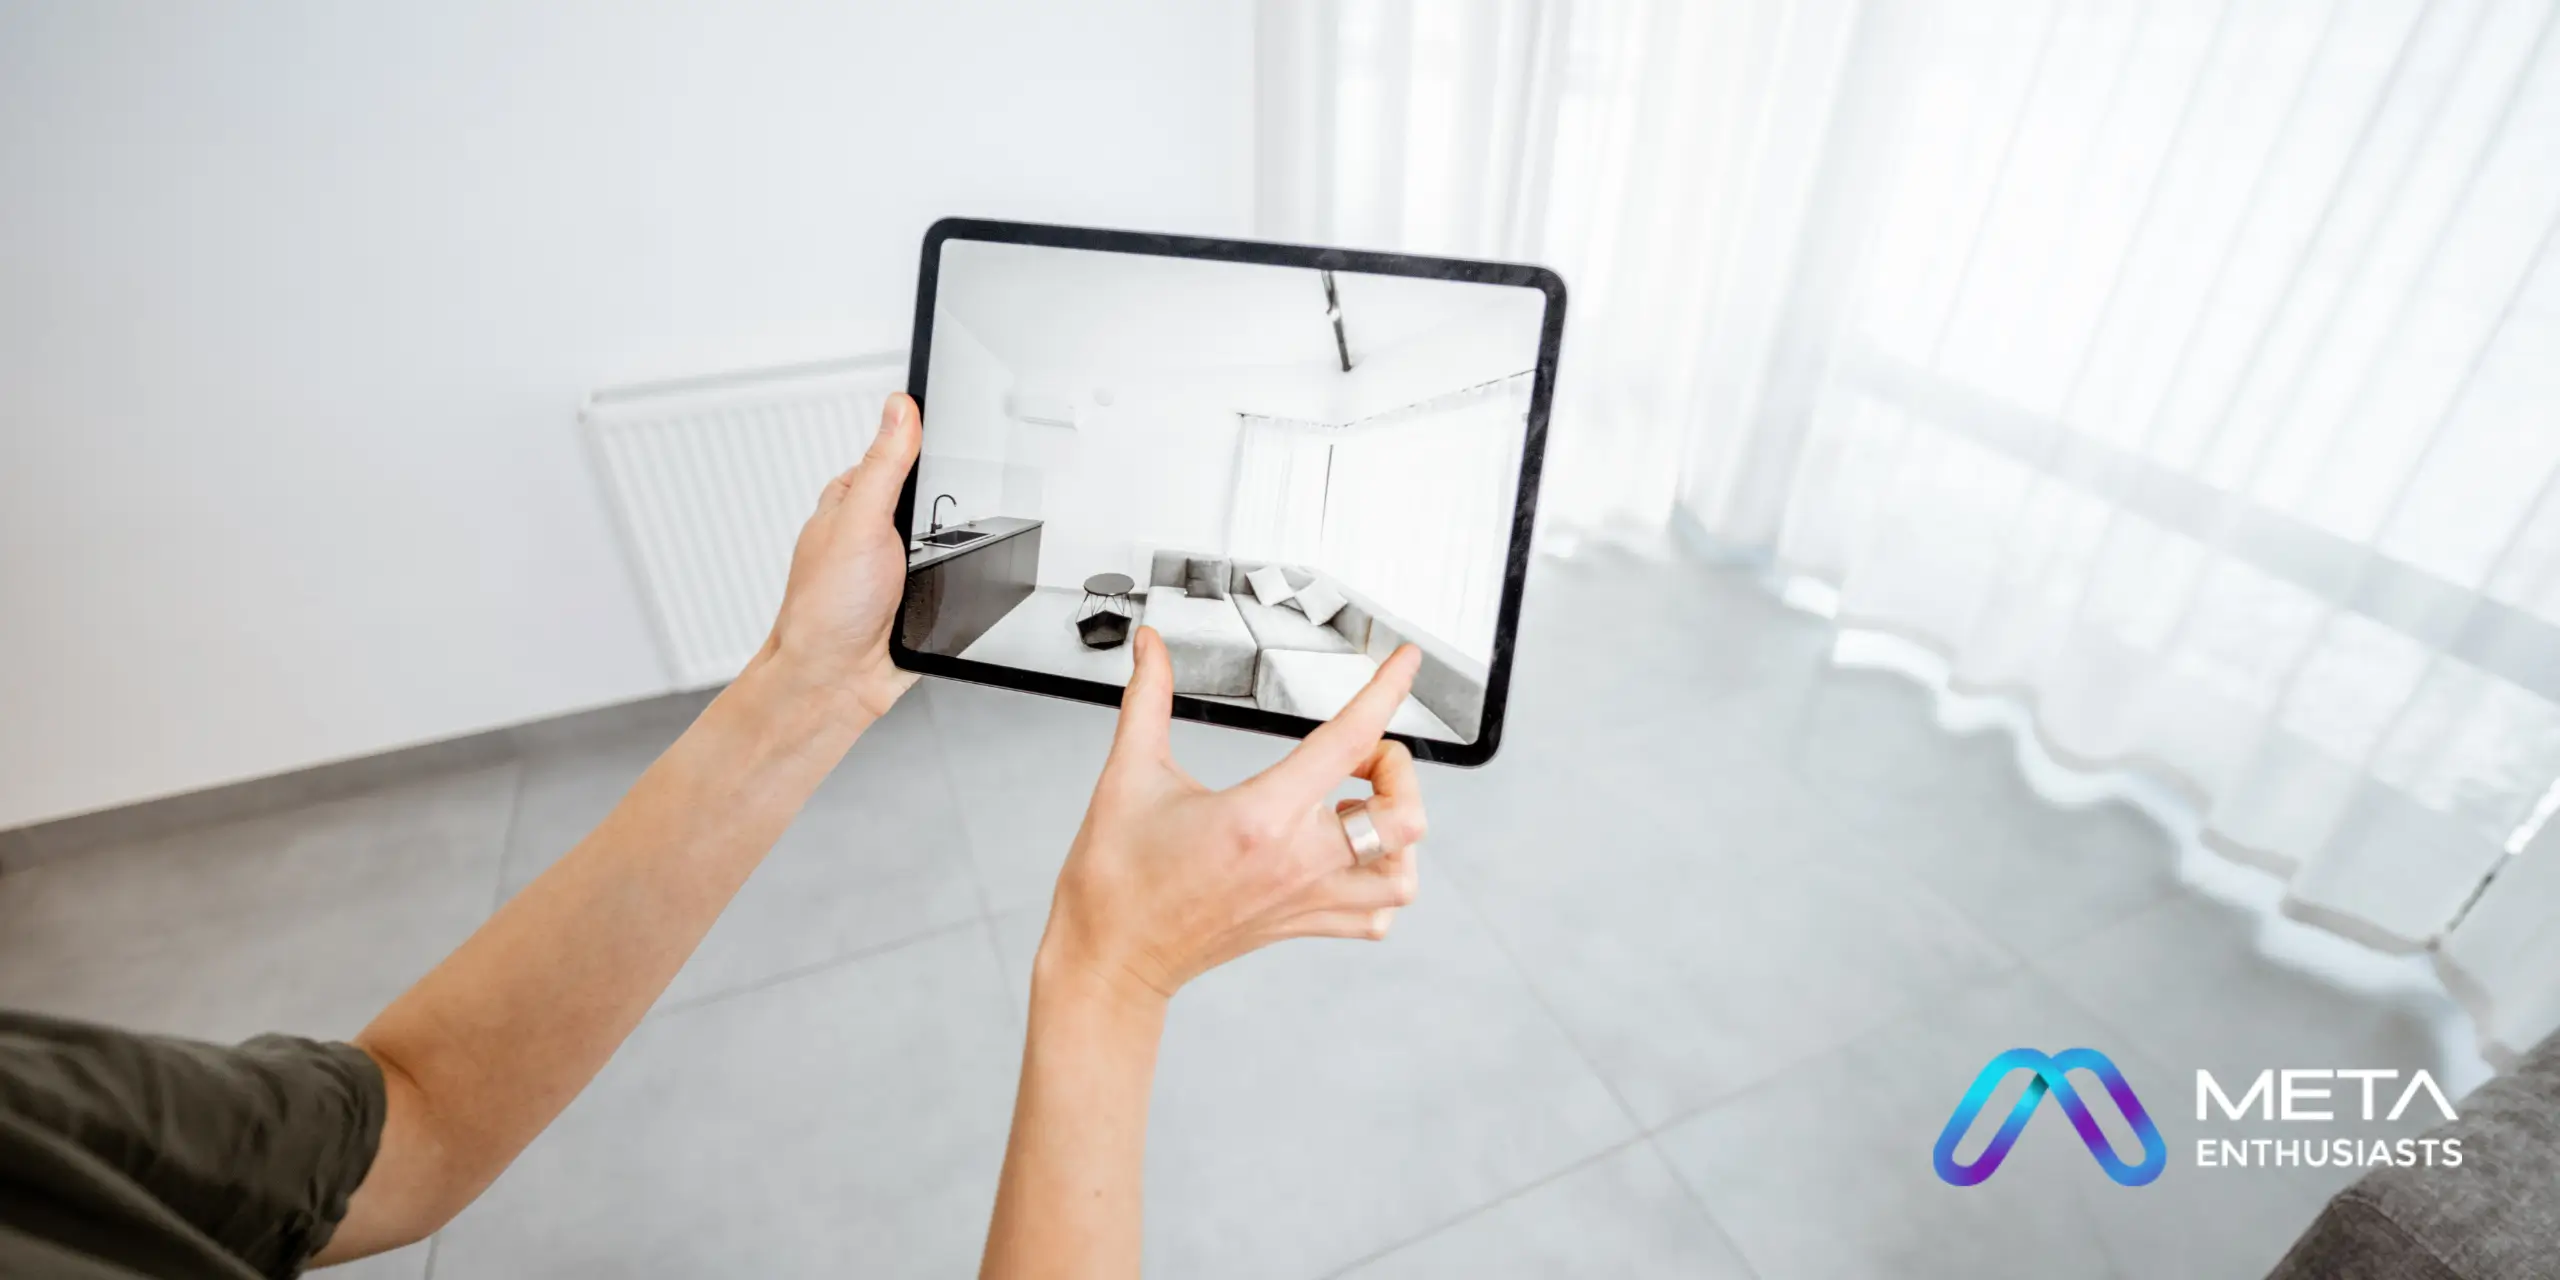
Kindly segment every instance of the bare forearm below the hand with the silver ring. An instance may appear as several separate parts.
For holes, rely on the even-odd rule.
[[[1042,947],[980,1275],[1137,1277],[1165,998]]]

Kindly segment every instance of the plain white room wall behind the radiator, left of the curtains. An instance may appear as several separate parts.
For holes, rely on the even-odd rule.
[[[666,686],[576,438],[945,212],[1242,233],[1252,13],[0,3],[0,827]]]

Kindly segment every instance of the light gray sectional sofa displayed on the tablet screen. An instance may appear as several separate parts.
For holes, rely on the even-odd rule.
[[[1221,573],[1226,599],[1203,599],[1185,589],[1193,561],[1226,566]],[[1339,581],[1329,584],[1341,591],[1347,604],[1321,625],[1288,604],[1262,604],[1247,576],[1267,563],[1196,550],[1157,550],[1152,556],[1142,622],[1165,637],[1175,694],[1252,696],[1270,709],[1316,717],[1313,712],[1326,707],[1339,689],[1344,671],[1334,671],[1321,658],[1298,655],[1362,655],[1375,663],[1411,640],[1423,650],[1423,666],[1413,676],[1413,701],[1428,709],[1439,724],[1408,719],[1393,727],[1434,737],[1446,730],[1449,740],[1475,742],[1485,714],[1482,666],[1382,614]],[[1313,571],[1290,563],[1280,566],[1280,576],[1290,586],[1316,581]],[[1265,660],[1265,653],[1288,653],[1290,658],[1272,663]]]

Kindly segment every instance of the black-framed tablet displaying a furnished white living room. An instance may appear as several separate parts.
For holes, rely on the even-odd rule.
[[[1421,648],[1416,758],[1503,740],[1564,335],[1541,266],[942,220],[901,668],[1303,737]]]

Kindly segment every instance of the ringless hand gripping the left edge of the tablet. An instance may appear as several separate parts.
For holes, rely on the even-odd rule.
[[[791,548],[791,579],[760,660],[786,666],[817,696],[847,699],[847,714],[878,719],[916,684],[888,660],[888,627],[906,591],[899,489],[916,463],[916,402],[881,407],[881,433],[863,461],[827,481],[817,515]]]

